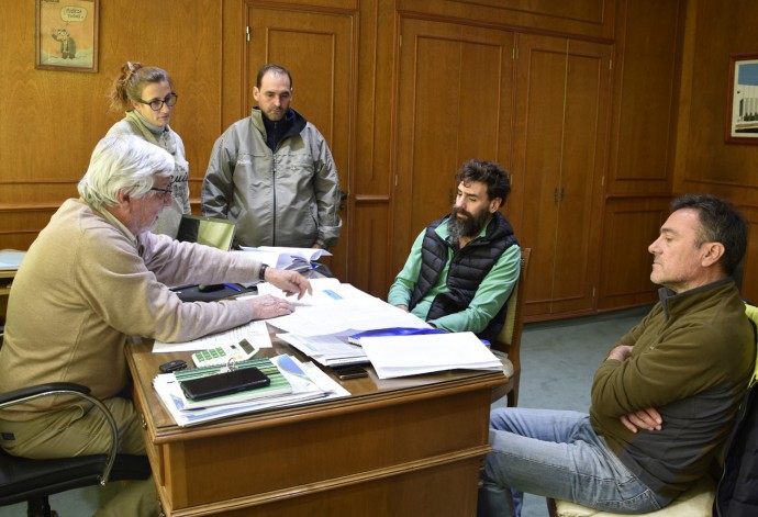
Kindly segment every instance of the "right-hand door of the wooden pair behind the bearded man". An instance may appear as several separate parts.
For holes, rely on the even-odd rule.
[[[609,45],[520,35],[514,189],[533,249],[526,316],[589,312],[598,283]]]

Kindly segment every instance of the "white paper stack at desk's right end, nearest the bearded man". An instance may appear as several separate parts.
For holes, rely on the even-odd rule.
[[[473,333],[364,337],[360,344],[379,379],[454,369],[502,370]]]

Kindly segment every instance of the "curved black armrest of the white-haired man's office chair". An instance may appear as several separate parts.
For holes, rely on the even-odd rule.
[[[115,425],[115,419],[113,418],[113,415],[111,415],[111,412],[108,409],[108,407],[100,402],[99,398],[90,395],[89,393],[89,387],[73,382],[49,382],[47,384],[37,384],[0,394],[0,409],[52,395],[71,395],[83,398],[91,403],[94,407],[100,409],[100,413],[103,414],[111,427],[111,450],[108,453],[108,461],[105,462],[105,468],[100,476],[100,484],[105,486],[108,479],[111,475],[111,470],[113,469],[113,463],[115,462],[115,456],[119,449],[119,427]]]

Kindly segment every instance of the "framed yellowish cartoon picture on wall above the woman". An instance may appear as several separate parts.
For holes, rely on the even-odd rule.
[[[100,0],[35,0],[36,68],[98,71]]]

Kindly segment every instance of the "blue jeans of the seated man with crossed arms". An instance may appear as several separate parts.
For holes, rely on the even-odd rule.
[[[660,509],[658,496],[595,435],[583,413],[504,407],[490,416],[477,515],[521,515],[523,493],[617,514]]]

